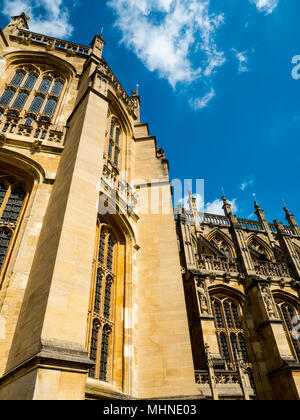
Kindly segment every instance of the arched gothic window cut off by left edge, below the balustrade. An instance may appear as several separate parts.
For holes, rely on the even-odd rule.
[[[0,274],[9,256],[27,197],[28,188],[21,179],[0,171]]]

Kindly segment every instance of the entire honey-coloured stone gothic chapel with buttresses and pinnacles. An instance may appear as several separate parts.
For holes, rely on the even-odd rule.
[[[0,400],[299,399],[294,216],[174,219],[102,36],[29,22],[0,30]]]

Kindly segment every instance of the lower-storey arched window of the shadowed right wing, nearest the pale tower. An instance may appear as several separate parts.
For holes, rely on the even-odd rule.
[[[221,355],[232,369],[236,369],[239,355],[251,368],[240,306],[230,298],[212,297],[212,307]]]

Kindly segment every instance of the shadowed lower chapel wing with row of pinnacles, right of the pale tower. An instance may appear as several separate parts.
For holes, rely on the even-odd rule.
[[[198,389],[210,399],[298,400],[300,229],[176,211],[177,237]],[[298,317],[298,318],[297,318]]]

